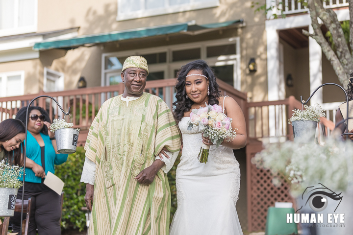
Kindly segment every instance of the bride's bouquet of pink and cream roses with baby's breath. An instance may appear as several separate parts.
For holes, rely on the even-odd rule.
[[[232,141],[236,137],[236,131],[231,127],[232,118],[222,112],[222,107],[219,105],[207,105],[200,109],[193,109],[190,113],[188,122],[188,130],[199,128],[203,131],[203,137],[208,137],[210,141],[218,148],[219,145],[227,138]],[[209,145],[202,143],[198,159],[200,163],[207,163]]]

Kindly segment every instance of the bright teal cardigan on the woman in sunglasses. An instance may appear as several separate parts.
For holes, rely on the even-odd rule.
[[[54,174],[54,164],[60,165],[66,162],[69,155],[67,154],[56,154],[55,149],[51,144],[50,138],[43,133],[40,133],[44,141],[44,153],[45,153],[45,172],[48,171]],[[27,150],[26,155],[29,159],[33,160],[36,164],[42,166],[41,161],[41,150],[37,140],[27,131]],[[21,177],[21,181],[23,178]],[[31,168],[25,169],[25,182],[42,183],[42,178],[35,176],[35,173]]]

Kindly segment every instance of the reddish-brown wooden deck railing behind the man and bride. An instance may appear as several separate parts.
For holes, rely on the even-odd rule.
[[[221,94],[233,97],[241,108],[246,111],[247,95],[235,90],[232,86],[221,80],[217,80],[217,82],[220,86]],[[158,95],[172,108],[172,103],[176,100],[175,84],[175,78],[148,81],[145,92]],[[27,106],[30,100],[39,95],[46,94],[55,98],[65,111],[71,107],[70,120],[74,123],[74,128],[88,130],[102,103],[113,96],[123,94],[123,92],[124,84],[121,83],[108,87],[91,87],[63,92],[41,92],[39,94],[1,97],[0,121],[7,118],[15,118],[18,110]],[[57,105],[49,98],[39,98],[34,102],[34,105],[44,107],[48,111],[51,120],[54,118],[63,118]]]

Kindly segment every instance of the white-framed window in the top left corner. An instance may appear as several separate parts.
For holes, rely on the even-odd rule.
[[[0,0],[0,36],[37,31],[37,0]]]

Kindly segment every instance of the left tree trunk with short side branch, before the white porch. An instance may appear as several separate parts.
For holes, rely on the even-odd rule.
[[[320,4],[322,4],[320,0],[319,0],[319,2],[320,2]],[[310,36],[313,39],[315,39],[316,42],[321,46],[324,54],[328,58],[328,61],[331,63],[331,65],[333,67],[333,70],[335,71],[336,75],[338,76],[339,81],[342,83],[343,86],[347,86],[347,82],[348,82],[348,80],[347,80],[348,76],[347,75],[349,75],[349,71],[348,71],[348,74],[347,74],[347,71],[342,66],[341,61],[337,57],[336,53],[330,47],[330,45],[326,41],[326,39],[325,39],[325,37],[324,37],[324,35],[323,35],[322,31],[321,31],[320,24],[319,24],[319,22],[317,20],[318,19],[318,14],[317,14],[317,11],[316,11],[317,10],[316,0],[308,0],[308,8],[310,10],[311,25],[312,25],[312,27],[314,29],[314,34],[312,35],[309,32],[307,32],[306,30],[303,30],[303,33],[305,35]],[[320,10],[320,7],[318,7],[318,8]],[[337,16],[335,16],[335,18],[337,19]],[[341,25],[340,25],[340,28],[341,28]],[[341,28],[341,30],[342,30],[342,28]],[[342,31],[342,33],[343,33],[343,31]],[[333,34],[332,34],[332,37],[333,37]],[[343,39],[344,39],[344,37],[343,37]],[[350,60],[352,61],[352,57],[350,57]]]

